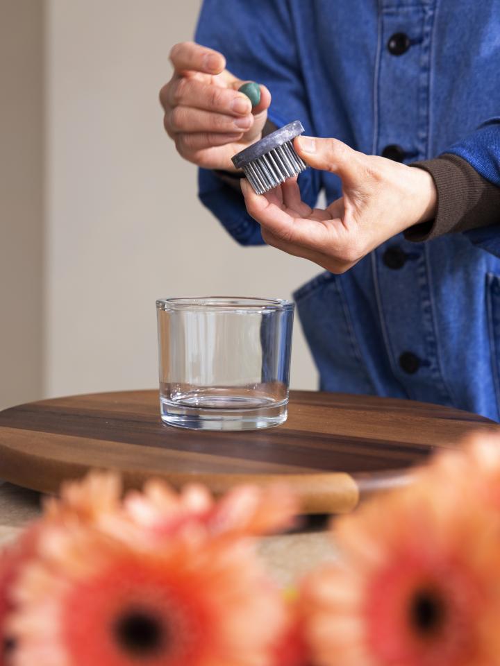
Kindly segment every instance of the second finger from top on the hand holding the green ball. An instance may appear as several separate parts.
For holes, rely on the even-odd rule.
[[[165,110],[188,106],[236,117],[249,115],[252,110],[250,100],[241,92],[186,77],[165,85],[160,90],[160,102]]]

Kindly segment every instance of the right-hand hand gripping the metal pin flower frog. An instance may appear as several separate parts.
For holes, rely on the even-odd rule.
[[[301,200],[297,179],[267,194],[242,192],[263,239],[331,273],[344,273],[387,239],[435,215],[437,192],[422,169],[353,151],[337,139],[297,137],[297,153],[310,167],[340,176],[342,194],[326,210]]]

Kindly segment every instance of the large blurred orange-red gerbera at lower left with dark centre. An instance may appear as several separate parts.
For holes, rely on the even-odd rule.
[[[246,540],[47,529],[16,590],[15,666],[260,666],[283,624]]]

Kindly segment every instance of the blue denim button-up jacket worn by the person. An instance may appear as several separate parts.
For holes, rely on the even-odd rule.
[[[388,47],[397,33],[409,38],[400,55]],[[196,39],[269,87],[278,126],[299,119],[369,154],[397,144],[407,163],[454,153],[500,186],[500,0],[206,0]],[[341,196],[331,173],[308,169],[299,183],[310,205],[321,189]],[[240,244],[263,242],[210,171],[199,196]],[[424,244],[398,236],[298,289],[321,388],[499,420],[499,257],[500,226]]]

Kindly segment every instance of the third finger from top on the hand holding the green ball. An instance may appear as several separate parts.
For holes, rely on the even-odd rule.
[[[165,114],[165,129],[170,136],[190,132],[235,134],[249,130],[252,125],[251,114],[235,118],[187,106],[176,106]]]

